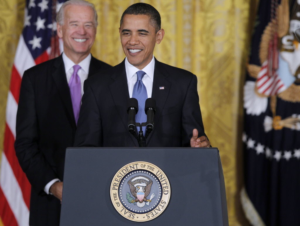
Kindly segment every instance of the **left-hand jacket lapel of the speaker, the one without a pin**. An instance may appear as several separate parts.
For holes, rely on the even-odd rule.
[[[122,119],[123,126],[126,130],[128,130],[128,115],[126,111],[127,100],[129,99],[129,92],[125,70],[125,60],[123,60],[123,62],[117,65],[115,68],[115,72],[111,75],[112,83],[109,85],[110,93],[113,97],[113,101],[116,105],[118,114]],[[134,144],[138,146],[136,139],[133,136],[131,136],[129,132],[128,136],[130,136]]]

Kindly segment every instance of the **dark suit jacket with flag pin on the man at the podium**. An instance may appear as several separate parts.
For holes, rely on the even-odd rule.
[[[195,75],[155,59],[152,98],[156,113],[147,147],[189,147],[194,128],[205,135]],[[74,146],[138,147],[128,132],[128,99],[124,61],[88,78]]]

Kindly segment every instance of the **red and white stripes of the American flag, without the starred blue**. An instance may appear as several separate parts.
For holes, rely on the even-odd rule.
[[[31,186],[19,165],[14,150],[16,113],[24,71],[45,60],[49,60],[47,51],[37,59],[33,59],[21,35],[14,58],[10,90],[7,96],[4,147],[1,157],[0,217],[4,226],[29,224]]]

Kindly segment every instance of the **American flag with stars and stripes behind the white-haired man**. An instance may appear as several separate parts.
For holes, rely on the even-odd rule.
[[[0,217],[4,226],[28,225],[31,186],[14,150],[16,113],[23,72],[60,53],[55,17],[63,0],[26,0],[7,96],[4,147],[0,168]],[[62,48],[61,48],[62,49]],[[0,221],[1,221],[0,220]]]

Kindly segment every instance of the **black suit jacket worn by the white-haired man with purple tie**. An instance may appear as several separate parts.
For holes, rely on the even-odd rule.
[[[88,76],[109,67],[92,57]],[[62,56],[25,71],[16,118],[15,150],[32,185],[30,225],[59,225],[60,201],[47,195],[44,187],[52,179],[62,181],[65,149],[73,145],[75,130]]]

